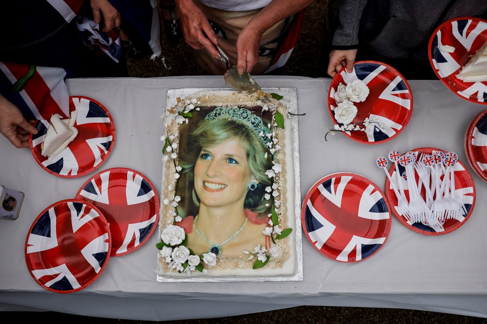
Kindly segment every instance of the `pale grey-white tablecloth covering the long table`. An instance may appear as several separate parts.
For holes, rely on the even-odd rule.
[[[467,163],[468,123],[487,108],[457,97],[440,81],[410,81],[412,119],[400,136],[379,145],[329,136],[330,79],[257,77],[262,87],[297,87],[301,199],[322,176],[338,171],[362,174],[383,188],[385,175],[375,159],[392,149],[417,147],[455,151]],[[225,87],[221,77],[154,79],[72,79],[71,95],[102,102],[117,132],[115,147],[99,169],[127,167],[161,181],[167,89]],[[487,317],[487,184],[468,167],[477,189],[470,219],[444,236],[415,233],[393,219],[389,239],[363,262],[339,263],[321,256],[303,236],[302,282],[158,283],[157,234],[136,252],[111,257],[88,288],[73,294],[44,290],[27,271],[24,244],[30,225],[48,205],[73,198],[90,175],[63,179],[43,171],[28,149],[0,138],[0,183],[25,192],[20,217],[0,220],[0,310],[54,310],[99,317],[171,320],[217,317],[300,305],[396,307]]]

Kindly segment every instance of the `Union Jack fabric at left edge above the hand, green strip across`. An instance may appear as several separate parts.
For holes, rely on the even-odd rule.
[[[19,107],[27,120],[47,119],[69,111],[68,86],[62,68],[0,62],[0,93]]]

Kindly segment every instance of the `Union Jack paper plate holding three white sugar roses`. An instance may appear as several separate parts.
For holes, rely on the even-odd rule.
[[[352,123],[362,123],[368,118],[372,119],[371,127],[366,132],[346,131],[344,134],[366,144],[384,143],[399,135],[411,119],[411,88],[395,68],[376,61],[356,62],[351,73],[343,68],[335,75],[328,95],[328,110],[334,123],[342,126],[335,119],[338,85],[348,85],[355,80],[362,80],[369,87],[369,95],[364,102],[353,102],[357,115]]]

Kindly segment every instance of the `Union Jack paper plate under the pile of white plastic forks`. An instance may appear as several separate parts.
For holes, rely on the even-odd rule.
[[[423,153],[430,154],[430,155],[436,152],[440,152],[442,154],[447,153],[446,151],[431,148],[431,147],[423,147],[423,148],[412,150],[410,152],[414,153],[412,157],[413,159],[416,158],[416,161],[419,161],[419,158],[422,157]],[[392,206],[393,215],[396,217],[397,220],[399,220],[399,222],[401,222],[406,227],[412,229],[414,232],[418,232],[425,235],[445,235],[450,232],[453,232],[454,230],[456,230],[457,228],[465,224],[465,222],[467,222],[468,218],[472,214],[473,207],[475,205],[475,196],[476,196],[475,184],[473,183],[473,179],[472,176],[470,175],[470,172],[468,172],[468,170],[465,168],[465,165],[460,160],[457,160],[456,158],[455,160],[456,160],[456,164],[453,167],[453,174],[455,177],[455,193],[457,196],[460,197],[463,204],[465,205],[465,209],[467,210],[467,215],[460,217],[459,220],[454,218],[445,219],[445,223],[443,224],[443,228],[445,230],[441,232],[436,232],[425,222],[413,223],[411,221],[408,221],[404,216],[402,216],[399,212],[397,212],[396,210],[398,205],[397,198],[394,194],[393,188],[391,187],[389,179],[386,178],[386,182],[384,184],[384,193],[389,201],[389,205]],[[400,174],[406,171],[406,169],[400,164],[398,164],[398,167],[399,167]],[[389,169],[389,173],[391,174],[392,179],[396,179],[394,164],[392,164],[391,168]],[[415,173],[414,180],[416,181],[416,184],[418,184],[419,175],[417,171],[415,171],[414,173]],[[441,180],[443,180],[443,175],[441,176]],[[409,202],[408,184],[405,180],[403,181],[402,184],[404,188],[404,194],[406,196],[407,201]],[[399,188],[398,186],[396,187]],[[421,189],[421,196],[423,197],[423,199],[425,199],[426,197],[426,191],[424,186]],[[433,197],[435,198],[436,195],[434,195]]]

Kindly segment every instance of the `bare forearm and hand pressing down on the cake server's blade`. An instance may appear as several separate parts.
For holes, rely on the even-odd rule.
[[[313,0],[273,0],[252,17],[237,38],[237,69],[239,74],[252,71],[259,60],[259,46],[269,28],[294,15]]]

